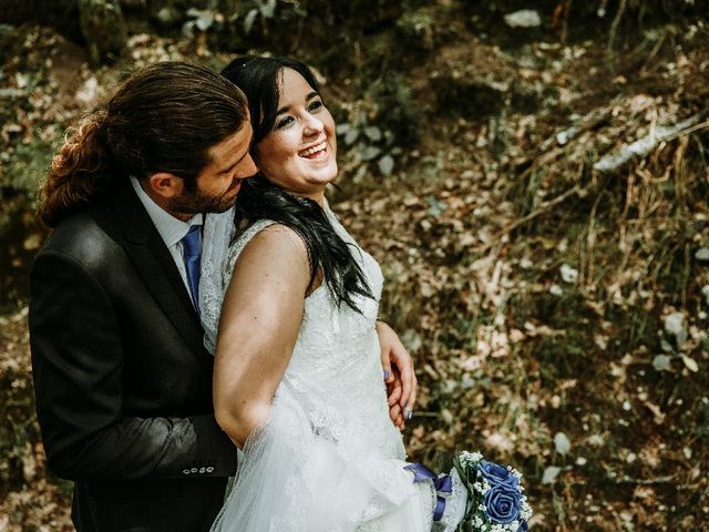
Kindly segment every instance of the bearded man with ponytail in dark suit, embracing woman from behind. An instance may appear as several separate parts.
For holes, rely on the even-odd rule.
[[[74,480],[79,532],[206,531],[222,507],[236,449],[214,418],[201,226],[256,172],[248,119],[224,78],[158,63],[54,157],[39,207],[54,231],[32,268],[30,339],[48,466]],[[379,329],[399,392],[403,381],[413,397],[409,355]]]

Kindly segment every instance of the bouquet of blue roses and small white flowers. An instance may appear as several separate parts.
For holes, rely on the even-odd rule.
[[[480,452],[463,451],[454,462],[467,489],[460,532],[526,532],[532,509],[520,483],[522,474],[489,462]]]

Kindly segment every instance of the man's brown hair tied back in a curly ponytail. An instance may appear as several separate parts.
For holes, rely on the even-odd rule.
[[[40,188],[40,219],[54,227],[131,175],[168,172],[195,190],[208,150],[246,124],[247,110],[244,93],[205,66],[168,61],[134,72],[68,131]]]

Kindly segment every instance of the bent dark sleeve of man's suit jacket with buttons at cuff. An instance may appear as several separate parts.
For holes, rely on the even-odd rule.
[[[213,415],[123,416],[119,317],[100,283],[72,257],[49,252],[35,260],[30,335],[38,418],[56,474],[126,480],[234,474],[236,448]]]

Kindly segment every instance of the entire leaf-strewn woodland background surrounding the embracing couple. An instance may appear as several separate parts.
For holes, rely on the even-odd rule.
[[[331,203],[382,264],[382,316],[415,359],[411,458],[466,448],[515,464],[534,530],[709,524],[708,12],[0,1],[0,530],[71,530],[27,332],[53,151],[132,69],[246,52],[295,55],[323,82]]]

